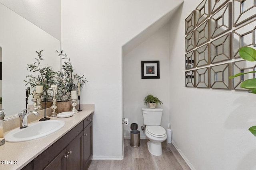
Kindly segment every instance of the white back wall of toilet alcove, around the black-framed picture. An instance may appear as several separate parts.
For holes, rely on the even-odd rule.
[[[160,79],[142,79],[141,61],[155,60],[160,63]],[[145,96],[152,94],[163,102],[164,105],[158,105],[164,109],[162,126],[167,128],[169,123],[169,24],[125,55],[123,63],[124,117],[129,119],[124,137],[130,138],[130,124],[137,123],[140,138],[146,139],[140,128],[144,125],[141,108],[146,107]]]

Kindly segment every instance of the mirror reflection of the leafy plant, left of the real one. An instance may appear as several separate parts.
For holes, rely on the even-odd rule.
[[[26,85],[30,84],[32,87],[32,92],[35,86],[40,85],[43,86],[43,91],[46,92],[47,89],[55,83],[55,75],[57,72],[54,72],[51,66],[40,67],[41,62],[44,60],[42,58],[42,51],[36,51],[38,54],[38,58],[34,64],[27,64],[29,72],[37,73],[37,75],[28,75],[26,78],[29,78],[28,81],[24,80]]]

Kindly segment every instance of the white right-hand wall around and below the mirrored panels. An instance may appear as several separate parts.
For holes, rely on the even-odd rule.
[[[170,122],[173,143],[196,170],[256,169],[255,95],[185,87],[184,20],[202,0],[185,0],[170,24]],[[193,168],[192,167],[192,168]]]

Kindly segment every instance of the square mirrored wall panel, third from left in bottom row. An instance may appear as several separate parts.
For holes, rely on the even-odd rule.
[[[210,88],[231,89],[231,63],[210,67]]]

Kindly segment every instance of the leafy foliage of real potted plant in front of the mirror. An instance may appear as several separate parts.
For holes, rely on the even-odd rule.
[[[83,87],[83,84],[87,82],[84,75],[79,76],[74,74],[74,68],[70,62],[70,58],[63,51],[60,51],[58,56],[61,57],[64,64],[62,65],[62,71],[58,71],[56,74],[56,85],[58,85],[58,94],[56,99],[58,101],[66,102],[71,99],[71,91],[78,89],[78,82],[80,83],[80,88]]]

